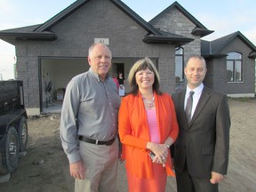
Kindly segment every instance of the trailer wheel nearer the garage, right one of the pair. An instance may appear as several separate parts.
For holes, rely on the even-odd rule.
[[[23,152],[26,150],[28,143],[28,124],[27,119],[24,116],[21,116],[20,118],[18,132],[20,138],[20,152]]]

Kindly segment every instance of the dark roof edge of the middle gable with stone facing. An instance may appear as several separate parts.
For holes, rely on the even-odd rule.
[[[178,9],[186,18],[188,18],[188,20],[190,20],[196,26],[196,28],[194,28],[191,31],[192,35],[199,35],[199,36],[203,37],[203,36],[212,34],[214,32],[213,30],[209,30],[209,29],[205,28],[201,22],[196,20],[196,18],[193,15],[191,15],[186,9],[184,9],[177,1],[175,1],[169,7],[164,9],[163,12],[160,12],[158,15],[156,15],[155,18],[153,18],[152,20],[149,20],[148,22],[152,23],[153,21],[160,19],[164,15],[165,12],[169,12],[169,10],[171,10],[173,8]]]

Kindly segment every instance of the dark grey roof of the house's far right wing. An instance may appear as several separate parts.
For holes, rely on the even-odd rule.
[[[201,41],[201,54],[205,57],[225,57],[226,54],[220,53],[221,50],[231,43],[235,38],[239,38],[244,44],[246,44],[252,52],[248,55],[250,58],[256,58],[256,47],[252,44],[240,31],[229,34],[227,36],[222,36],[218,39],[213,40],[212,42]]]

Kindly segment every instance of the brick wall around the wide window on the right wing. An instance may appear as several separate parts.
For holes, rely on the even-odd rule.
[[[243,94],[244,96],[253,96],[255,92],[255,60],[248,58],[251,49],[236,37],[228,46],[221,50],[221,53],[224,54],[228,52],[239,52],[243,55],[243,82],[228,83],[226,80],[226,58],[214,59],[213,89],[227,93],[230,96],[243,96]]]

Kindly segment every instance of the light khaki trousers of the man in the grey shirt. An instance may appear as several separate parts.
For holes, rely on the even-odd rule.
[[[95,145],[79,140],[85,179],[75,182],[75,192],[116,192],[118,140],[112,145]]]

